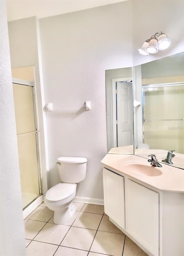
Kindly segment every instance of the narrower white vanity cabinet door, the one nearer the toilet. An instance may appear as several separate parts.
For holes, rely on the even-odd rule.
[[[103,181],[105,213],[124,229],[124,178],[103,168]]]

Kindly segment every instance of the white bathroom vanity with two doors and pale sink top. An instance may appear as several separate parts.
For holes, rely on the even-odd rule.
[[[184,255],[184,170],[135,155],[101,161],[105,213],[151,256]]]

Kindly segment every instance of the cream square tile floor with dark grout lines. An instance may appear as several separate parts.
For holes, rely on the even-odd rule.
[[[26,256],[146,256],[104,213],[104,206],[74,203],[77,212],[64,224],[53,223],[44,203],[25,220]]]

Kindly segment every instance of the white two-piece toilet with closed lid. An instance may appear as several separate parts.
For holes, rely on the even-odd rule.
[[[72,202],[76,194],[76,183],[86,177],[87,158],[59,157],[57,166],[60,179],[64,183],[59,183],[47,191],[45,205],[54,211],[54,223],[64,224],[76,212],[76,206]]]

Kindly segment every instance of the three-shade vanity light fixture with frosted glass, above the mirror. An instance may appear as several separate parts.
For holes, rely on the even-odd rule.
[[[162,33],[155,33],[149,39],[147,39],[141,48],[138,49],[142,55],[149,55],[149,53],[157,53],[158,50],[165,50],[171,44],[171,41],[167,36]]]

